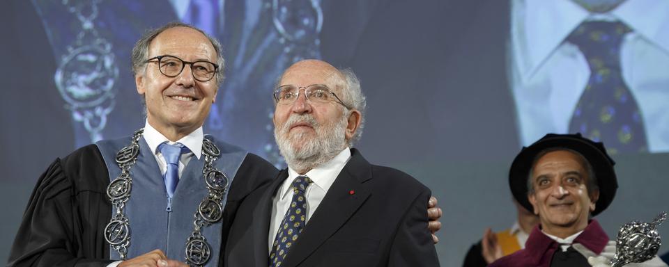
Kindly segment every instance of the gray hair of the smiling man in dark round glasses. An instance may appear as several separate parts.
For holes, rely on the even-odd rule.
[[[199,33],[202,33],[202,35],[206,36],[207,39],[209,39],[209,42],[211,42],[211,45],[214,47],[214,50],[216,51],[217,54],[217,60],[216,64],[218,65],[218,69],[216,70],[216,83],[220,86],[221,83],[223,82],[224,79],[224,74],[223,74],[223,69],[225,65],[225,60],[223,59],[223,47],[221,43],[216,40],[216,38],[211,37],[201,29],[198,29],[195,26],[192,26],[190,24],[185,24],[183,22],[170,22],[168,24],[165,24],[161,26],[160,28],[153,29],[151,31],[147,31],[144,33],[144,35],[139,38],[136,44],[134,44],[134,47],[132,47],[132,74],[134,76],[137,76],[137,74],[144,74],[144,71],[146,71],[146,60],[148,59],[148,46],[151,44],[151,41],[155,39],[157,35],[162,33],[163,31],[175,27],[186,27],[190,29],[194,29],[195,31],[199,31]]]

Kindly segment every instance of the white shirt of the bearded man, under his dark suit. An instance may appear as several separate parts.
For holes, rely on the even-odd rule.
[[[309,170],[305,175],[300,175],[292,168],[288,168],[288,178],[284,180],[283,184],[279,186],[277,193],[272,197],[272,217],[270,217],[268,251],[272,251],[272,243],[274,243],[277,232],[279,232],[281,221],[284,219],[284,215],[286,215],[286,211],[288,211],[293,200],[293,191],[290,190],[293,180],[298,176],[306,176],[313,181],[305,191],[307,197],[307,218],[305,219],[305,223],[307,223],[309,222],[309,218],[312,218],[314,211],[318,209],[318,205],[323,201],[325,193],[328,193],[328,189],[334,183],[334,179],[337,179],[337,175],[344,169],[344,165],[346,165],[349,159],[351,159],[351,149],[346,147],[337,156],[334,156],[332,160],[318,168]]]

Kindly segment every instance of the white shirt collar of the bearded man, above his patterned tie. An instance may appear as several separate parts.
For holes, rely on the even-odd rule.
[[[309,177],[309,179],[312,179],[312,181],[314,181],[314,186],[318,186],[321,189],[323,189],[323,191],[328,192],[328,189],[330,189],[330,186],[332,186],[334,180],[337,179],[337,175],[339,175],[341,169],[344,168],[344,165],[346,165],[348,159],[351,159],[351,149],[346,147],[344,150],[341,150],[341,152],[339,152],[337,156],[334,156],[334,158],[332,158],[330,161],[326,162],[321,166],[313,168],[312,170],[309,170],[307,173],[305,173],[304,176]],[[293,170],[293,168],[290,167],[288,168],[288,179],[284,181],[284,184],[279,189],[279,192],[281,192],[282,199],[286,197],[286,194],[289,192],[289,189],[291,188],[293,180],[298,176],[300,176],[298,172]]]

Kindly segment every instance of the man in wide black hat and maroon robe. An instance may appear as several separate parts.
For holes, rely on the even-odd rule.
[[[490,266],[608,266],[615,254],[597,220],[617,190],[615,162],[602,143],[576,134],[548,134],[523,147],[509,172],[521,205],[539,216],[525,249]],[[658,257],[643,264],[667,266]]]

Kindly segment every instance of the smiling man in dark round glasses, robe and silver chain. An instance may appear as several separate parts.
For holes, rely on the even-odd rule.
[[[223,80],[221,51],[217,40],[178,22],[137,42],[132,71],[146,104],[144,128],[49,166],[8,266],[224,265],[240,202],[277,170],[203,134]]]

